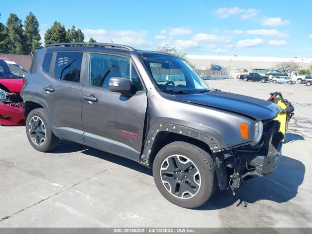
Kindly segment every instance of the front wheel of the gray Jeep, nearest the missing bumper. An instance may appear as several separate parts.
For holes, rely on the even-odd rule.
[[[184,163],[179,159],[187,159],[184,161],[185,165],[182,165]],[[166,164],[168,170],[163,167]],[[193,165],[193,169],[190,169],[192,166],[188,167],[189,165]],[[185,167],[187,168],[185,169]],[[161,173],[162,170],[167,171],[167,173]],[[170,173],[171,171],[172,173]],[[186,176],[190,174],[194,174],[193,177],[192,175]],[[168,201],[190,209],[203,205],[214,194],[217,185],[213,158],[203,149],[183,141],[172,142],[158,152],[153,163],[153,176],[156,187]],[[175,191],[178,187],[176,195],[171,192],[173,186],[163,179],[170,181],[175,186]],[[197,188],[195,188],[196,184],[194,183],[196,179],[197,182],[199,181],[199,183],[196,182]],[[188,191],[183,192],[184,189]],[[189,193],[190,191],[193,194]],[[182,193],[181,196],[180,193]]]

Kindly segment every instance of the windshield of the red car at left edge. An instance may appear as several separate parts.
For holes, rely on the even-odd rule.
[[[28,71],[20,64],[11,60],[0,60],[1,78],[23,78]]]

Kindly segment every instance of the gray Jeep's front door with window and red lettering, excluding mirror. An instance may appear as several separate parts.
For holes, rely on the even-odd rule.
[[[95,148],[139,160],[147,109],[146,91],[130,58],[87,56],[81,92],[84,141]],[[109,90],[109,79],[128,78],[134,94],[125,97]]]

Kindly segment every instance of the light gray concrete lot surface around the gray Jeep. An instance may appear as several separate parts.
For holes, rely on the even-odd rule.
[[[0,227],[312,227],[312,87],[208,80],[214,88],[295,106],[278,168],[196,210],[157,191],[136,162],[69,141],[34,150],[24,127],[0,126]]]

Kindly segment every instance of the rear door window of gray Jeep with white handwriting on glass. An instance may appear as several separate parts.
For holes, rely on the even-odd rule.
[[[82,53],[57,53],[54,77],[62,80],[79,82],[82,62]]]

